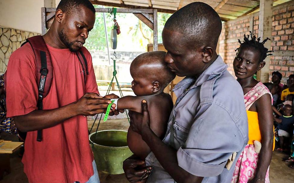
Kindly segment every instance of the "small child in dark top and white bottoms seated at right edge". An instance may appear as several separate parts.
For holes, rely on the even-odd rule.
[[[280,116],[279,119],[282,119],[282,123],[279,124],[278,135],[280,141],[280,148],[277,150],[283,152],[287,147],[288,138],[292,136],[294,116],[292,115],[292,106],[289,104],[284,105],[283,107],[283,116]]]

